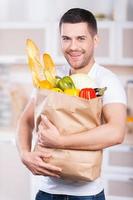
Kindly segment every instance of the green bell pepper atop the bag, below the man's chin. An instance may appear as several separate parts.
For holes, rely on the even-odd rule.
[[[57,87],[64,91],[66,88],[75,88],[75,85],[69,76],[64,76],[58,81]]]

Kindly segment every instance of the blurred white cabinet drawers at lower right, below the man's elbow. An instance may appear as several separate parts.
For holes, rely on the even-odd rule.
[[[104,151],[103,176],[108,200],[133,199],[133,147],[118,145]]]

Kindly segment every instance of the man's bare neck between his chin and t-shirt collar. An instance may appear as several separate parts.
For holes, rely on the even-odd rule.
[[[74,69],[74,68],[71,67],[70,68],[70,74],[78,74],[78,73],[88,74],[94,63],[95,63],[95,60],[92,59],[89,62],[89,64],[87,66],[83,67],[83,68]]]

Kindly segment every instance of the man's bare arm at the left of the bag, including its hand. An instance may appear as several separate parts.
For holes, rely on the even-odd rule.
[[[59,177],[61,169],[45,163],[43,160],[51,157],[50,152],[45,149],[38,152],[31,151],[32,132],[34,128],[34,106],[34,99],[31,99],[18,122],[16,142],[21,160],[35,175]]]

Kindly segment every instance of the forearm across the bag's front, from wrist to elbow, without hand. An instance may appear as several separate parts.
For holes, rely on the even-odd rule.
[[[123,127],[104,124],[86,132],[63,136],[61,144],[65,149],[99,150],[119,144],[123,139]]]

